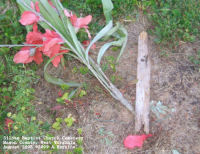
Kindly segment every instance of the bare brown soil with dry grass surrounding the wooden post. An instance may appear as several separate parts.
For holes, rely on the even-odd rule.
[[[115,85],[133,106],[137,81],[138,36],[149,26],[142,16],[133,23],[126,23],[128,44],[115,73],[120,77]],[[172,150],[181,154],[200,154],[200,73],[199,68],[188,60],[188,56],[200,50],[199,42],[182,42],[175,53],[165,48],[166,54],[163,56],[160,47],[153,40],[154,37],[149,36],[152,64],[151,100],[162,102],[174,112],[169,112],[161,120],[158,120],[153,112],[150,113],[150,133],[153,136],[144,142],[142,148],[124,148],[124,138],[136,134],[134,116],[114,100],[90,74],[72,73],[72,68],[80,65],[77,61],[68,61],[66,70],[52,67],[49,72],[64,80],[86,82],[87,96],[75,99],[75,102],[78,102],[75,107],[66,105],[54,113],[50,109],[58,105],[56,98],[60,88],[44,80],[41,68],[38,71],[41,80],[35,85],[38,118],[52,124],[57,117],[65,118],[72,114],[76,119],[73,127],[68,129],[63,126],[61,131],[52,130],[51,133],[55,136],[77,136],[76,129],[82,128],[84,152],[88,154],[169,154]],[[116,53],[109,51],[109,54]]]

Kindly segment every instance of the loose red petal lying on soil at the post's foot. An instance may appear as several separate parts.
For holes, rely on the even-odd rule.
[[[152,134],[148,135],[129,135],[124,140],[124,146],[129,149],[133,149],[135,147],[142,147],[143,142],[148,138],[151,137]]]

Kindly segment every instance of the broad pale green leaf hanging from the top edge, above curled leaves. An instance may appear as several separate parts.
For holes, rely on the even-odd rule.
[[[106,23],[108,24],[110,20],[112,20],[112,9],[113,3],[111,0],[102,0],[103,5],[103,13],[106,17]]]

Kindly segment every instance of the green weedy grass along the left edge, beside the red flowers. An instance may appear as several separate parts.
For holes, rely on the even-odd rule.
[[[0,44],[23,43],[26,30],[18,22],[20,14],[16,3],[1,1],[0,14]],[[31,87],[39,78],[36,76],[36,67],[13,62],[13,56],[19,49],[0,48],[1,141],[3,136],[36,136],[44,132],[44,125],[37,120],[37,113],[32,104],[35,90]],[[14,121],[9,132],[4,129],[6,118]],[[2,146],[1,144],[0,149],[3,149]]]

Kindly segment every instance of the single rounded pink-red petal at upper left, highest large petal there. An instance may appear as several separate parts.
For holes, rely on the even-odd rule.
[[[21,16],[21,19],[19,22],[26,26],[26,25],[32,25],[35,22],[39,21],[39,17],[36,16],[33,12],[31,11],[24,11],[24,13]]]

